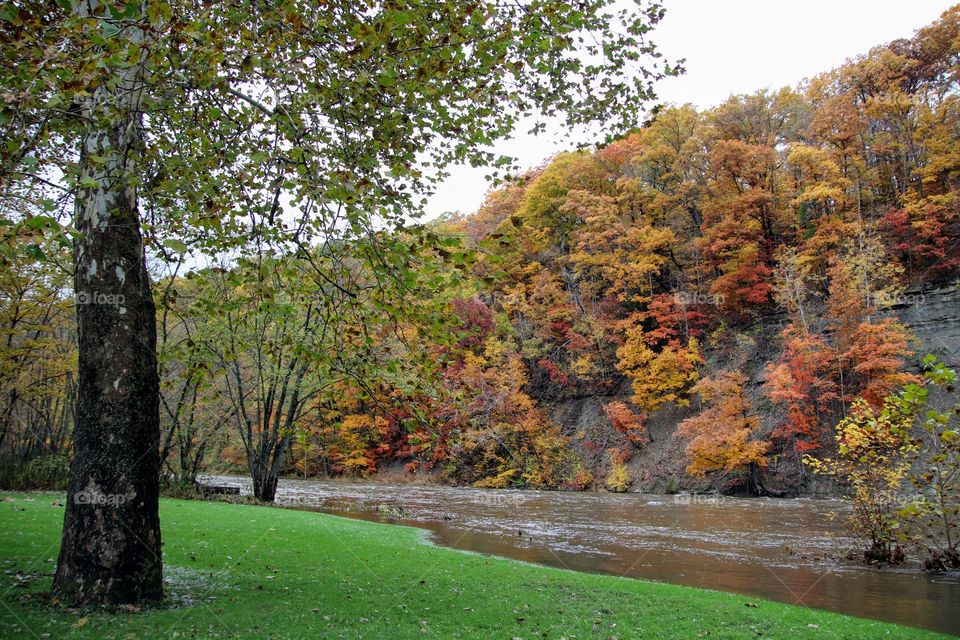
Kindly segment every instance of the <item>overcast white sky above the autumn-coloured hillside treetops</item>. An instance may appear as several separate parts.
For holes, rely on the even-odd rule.
[[[668,78],[660,100],[699,108],[731,94],[796,85],[846,59],[936,20],[947,0],[664,0],[667,15],[653,40],[668,59],[686,58],[687,73]],[[557,130],[518,134],[496,148],[530,167],[573,146]],[[427,205],[429,217],[472,213],[483,201],[484,169],[456,167]]]

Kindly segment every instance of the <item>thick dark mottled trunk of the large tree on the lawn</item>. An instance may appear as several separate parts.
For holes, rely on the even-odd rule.
[[[128,37],[138,33],[132,26]],[[53,585],[71,604],[163,595],[156,311],[131,180],[142,145],[141,72],[121,72],[116,86],[98,87],[83,105],[90,124],[74,212],[78,398]]]

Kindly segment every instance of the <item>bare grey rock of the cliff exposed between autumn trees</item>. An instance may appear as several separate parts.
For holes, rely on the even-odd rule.
[[[936,289],[908,291],[888,313],[899,318],[913,332],[917,363],[924,355],[933,353],[942,361],[960,367],[960,282]],[[740,336],[736,343],[720,345],[705,353],[708,369],[735,366],[747,375],[747,393],[760,414],[764,432],[772,430],[783,417],[764,395],[763,383],[766,365],[780,355],[777,336],[786,321],[782,316],[768,317],[761,326]],[[624,381],[608,397],[589,396],[557,402],[551,408],[551,415],[573,439],[575,447],[599,462],[605,441],[615,439],[602,406],[629,397],[630,385]],[[634,490],[663,492],[674,487],[689,491],[730,490],[729,483],[691,478],[684,473],[683,443],[674,434],[677,424],[692,413],[689,407],[670,405],[649,416],[647,428],[651,442],[629,463]],[[794,456],[772,456],[763,475],[771,491],[785,495],[796,494],[798,490],[803,494],[833,494],[836,491],[829,481],[806,473]]]

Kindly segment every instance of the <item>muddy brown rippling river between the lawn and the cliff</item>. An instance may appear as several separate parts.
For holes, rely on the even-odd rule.
[[[251,493],[246,478],[205,481]],[[834,500],[281,480],[277,502],[420,527],[455,549],[960,634],[960,575],[838,560],[852,541]]]

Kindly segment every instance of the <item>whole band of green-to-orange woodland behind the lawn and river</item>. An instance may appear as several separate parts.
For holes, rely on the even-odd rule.
[[[662,106],[471,215],[204,269],[168,241],[151,262],[165,472],[249,472],[268,500],[284,474],[386,470],[626,491],[666,415],[666,489],[806,490],[847,449],[838,424],[942,366],[891,309],[960,274],[958,74],[954,8],[796,88]],[[0,270],[0,448],[8,474],[56,478],[77,336],[66,249],[40,224]],[[589,428],[555,416],[576,398],[602,407]]]

